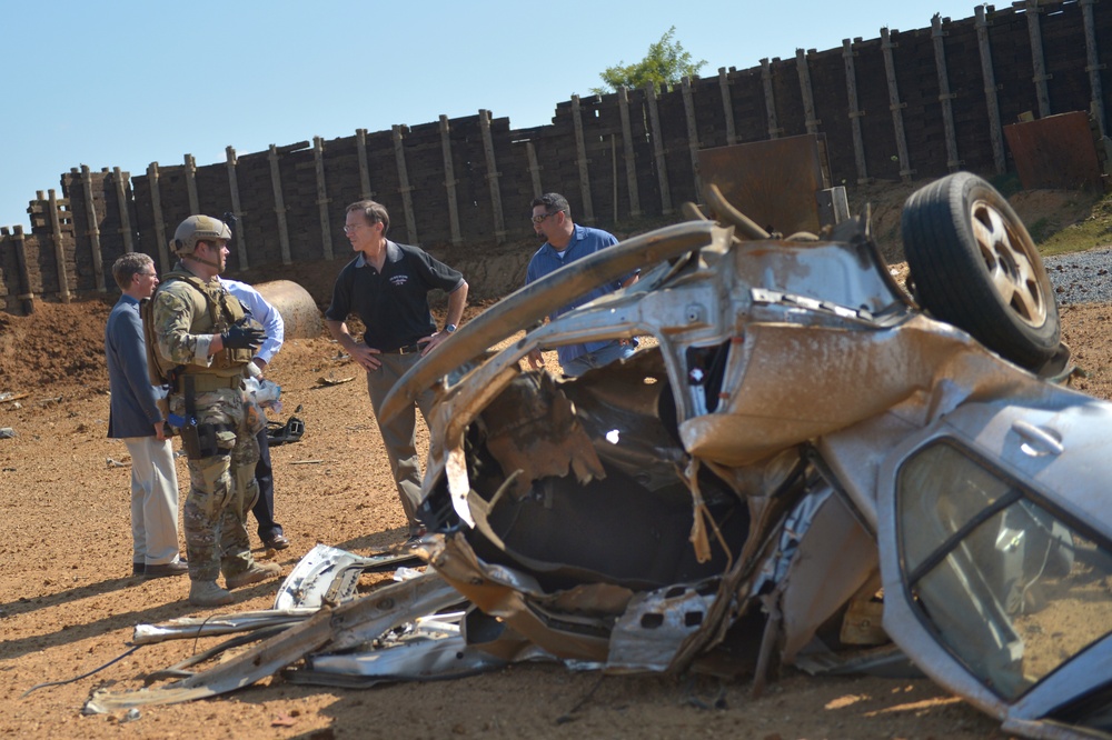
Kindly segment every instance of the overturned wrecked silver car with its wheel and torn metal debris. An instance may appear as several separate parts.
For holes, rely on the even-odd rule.
[[[915,193],[909,293],[867,220],[784,238],[708,190],[713,220],[692,208],[517,291],[403,378],[384,416],[438,391],[411,551],[318,547],[274,610],[143,626],[137,642],[267,637],[87,711],[284,668],[369,686],[547,658],[758,691],[781,664],[921,670],[1009,732],[1112,737],[1112,406],[1060,383],[1053,291],[1014,212],[966,173]],[[522,363],[634,337],[577,379]],[[414,557],[426,573],[356,596]]]

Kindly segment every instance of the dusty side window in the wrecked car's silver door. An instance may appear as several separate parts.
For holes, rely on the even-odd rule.
[[[901,470],[906,587],[939,640],[1012,701],[1112,630],[1112,553],[963,449]]]

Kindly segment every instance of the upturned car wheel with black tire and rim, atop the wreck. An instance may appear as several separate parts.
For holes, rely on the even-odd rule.
[[[915,299],[1007,360],[1037,370],[1061,341],[1054,290],[1023,222],[981,178],[957,172],[904,203]]]

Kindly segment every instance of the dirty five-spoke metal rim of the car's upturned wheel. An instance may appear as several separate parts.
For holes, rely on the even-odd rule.
[[[974,201],[970,216],[989,279],[1001,301],[1023,323],[1043,326],[1049,297],[1039,279],[1041,260],[1034,242],[985,200]]]

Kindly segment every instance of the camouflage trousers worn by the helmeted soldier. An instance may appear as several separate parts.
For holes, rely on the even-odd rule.
[[[185,416],[185,399],[170,397],[170,411]],[[258,414],[236,389],[197,393],[198,426],[216,424],[217,453],[189,460],[189,494],[182,508],[182,530],[189,558],[189,578],[215,581],[249,570],[251,557],[247,512],[259,496],[255,464],[259,446],[252,427]],[[252,421],[255,422],[252,424]]]

